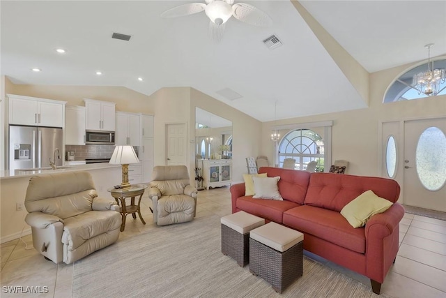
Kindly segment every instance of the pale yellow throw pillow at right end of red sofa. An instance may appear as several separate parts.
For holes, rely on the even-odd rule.
[[[389,200],[375,195],[373,191],[365,191],[355,200],[346,204],[342,208],[341,214],[353,228],[359,228],[364,226],[371,216],[386,211],[392,204]]]

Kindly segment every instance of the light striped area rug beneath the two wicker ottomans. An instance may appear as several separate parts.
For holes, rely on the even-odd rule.
[[[307,257],[303,276],[279,295],[220,245],[218,216],[153,225],[75,262],[72,297],[378,297]]]

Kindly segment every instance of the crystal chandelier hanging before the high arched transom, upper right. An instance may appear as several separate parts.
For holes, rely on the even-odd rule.
[[[445,70],[443,68],[434,69],[433,61],[431,61],[431,47],[433,43],[424,45],[428,50],[427,70],[417,73],[413,76],[412,86],[418,90],[418,94],[426,94],[427,96],[435,96],[438,94],[439,86],[445,82]]]

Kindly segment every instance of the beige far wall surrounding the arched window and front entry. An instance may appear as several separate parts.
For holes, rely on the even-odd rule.
[[[407,64],[371,73],[370,105],[366,109],[280,120],[276,125],[332,120],[332,160],[349,161],[348,174],[380,176],[381,121],[446,117],[446,96],[383,104],[385,90],[394,78],[412,67],[413,64]],[[268,158],[273,156],[270,134],[274,125],[274,122],[262,124],[261,153]],[[281,131],[282,137],[284,133],[286,131]]]

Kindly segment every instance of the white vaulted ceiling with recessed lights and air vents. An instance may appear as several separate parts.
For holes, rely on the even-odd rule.
[[[209,38],[205,13],[160,17],[191,2],[1,1],[1,74],[15,84],[123,86],[146,95],[193,87],[259,121],[274,119],[276,100],[277,119],[367,106],[290,1],[243,1],[266,12],[272,27],[231,17],[220,43]],[[427,43],[436,44],[431,56],[446,53],[446,1],[300,3],[369,73],[426,59]],[[132,37],[112,39],[114,32]],[[275,50],[262,42],[272,34],[283,43]],[[227,88],[242,97],[217,93]]]

